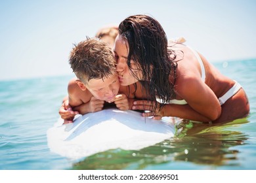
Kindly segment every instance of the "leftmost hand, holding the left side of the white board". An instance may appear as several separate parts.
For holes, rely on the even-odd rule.
[[[73,111],[72,107],[68,105],[68,100],[63,101],[62,106],[58,110],[58,114],[60,114],[60,117],[64,119],[64,124],[69,124],[73,122],[73,119],[76,114],[79,114],[77,111]]]

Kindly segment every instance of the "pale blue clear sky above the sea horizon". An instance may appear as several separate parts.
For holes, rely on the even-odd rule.
[[[153,16],[211,62],[256,58],[255,0],[10,0],[0,1],[0,80],[68,75],[74,43],[133,14]]]

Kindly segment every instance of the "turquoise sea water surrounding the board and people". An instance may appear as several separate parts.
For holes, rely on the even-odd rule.
[[[51,152],[46,136],[72,76],[0,81],[0,169],[256,169],[256,59],[214,65],[245,88],[250,116],[221,125],[183,121],[155,146],[79,161]]]

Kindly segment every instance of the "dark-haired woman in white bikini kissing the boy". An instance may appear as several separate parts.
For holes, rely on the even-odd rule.
[[[139,81],[148,100],[135,101],[144,116],[177,116],[226,122],[249,114],[249,101],[236,81],[222,75],[200,53],[167,44],[165,31],[150,16],[129,16],[119,24],[114,46],[121,86]]]

